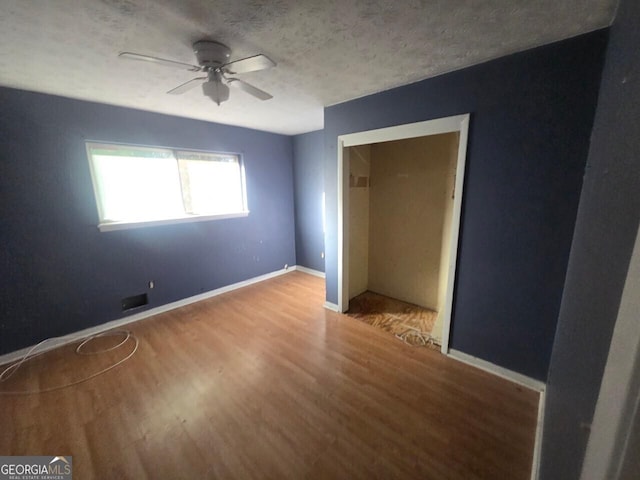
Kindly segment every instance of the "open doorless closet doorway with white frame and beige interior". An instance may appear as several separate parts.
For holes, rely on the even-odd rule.
[[[442,353],[468,125],[469,115],[459,115],[338,138],[339,310],[371,292],[426,307]]]

